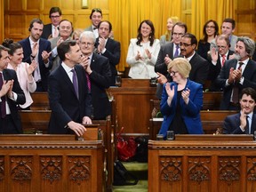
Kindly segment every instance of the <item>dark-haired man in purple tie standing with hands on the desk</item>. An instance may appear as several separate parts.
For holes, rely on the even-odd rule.
[[[48,132],[52,134],[86,131],[83,124],[92,124],[92,100],[84,68],[80,63],[82,52],[76,41],[64,41],[58,48],[61,65],[49,76],[49,101],[52,114]]]

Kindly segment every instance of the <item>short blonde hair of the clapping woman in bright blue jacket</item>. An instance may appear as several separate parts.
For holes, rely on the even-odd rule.
[[[168,72],[170,73],[172,68],[175,67],[181,76],[187,78],[189,76],[191,65],[188,60],[184,58],[175,58],[168,64]]]

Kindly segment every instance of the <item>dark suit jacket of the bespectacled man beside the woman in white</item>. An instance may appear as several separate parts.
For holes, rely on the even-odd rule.
[[[168,76],[167,66],[164,63],[166,54],[168,54],[169,57],[173,60],[173,43],[166,43],[162,45],[157,56],[155,72],[159,72],[164,76]]]

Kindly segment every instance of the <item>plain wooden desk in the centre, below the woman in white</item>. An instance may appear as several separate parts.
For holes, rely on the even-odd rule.
[[[147,133],[151,116],[150,100],[156,100],[156,87],[149,86],[148,79],[122,79],[121,87],[108,89],[116,100],[119,129],[124,133]]]

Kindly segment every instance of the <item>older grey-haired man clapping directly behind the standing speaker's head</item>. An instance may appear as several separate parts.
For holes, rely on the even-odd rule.
[[[60,57],[57,52],[57,47],[63,41],[70,40],[70,36],[72,35],[72,32],[73,32],[72,22],[69,20],[60,20],[59,31],[60,31],[59,36],[49,39],[49,41],[51,42],[51,48],[52,48],[52,62],[53,62],[52,70],[57,68],[61,63]]]

